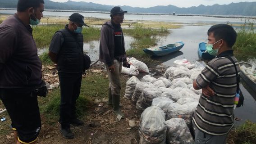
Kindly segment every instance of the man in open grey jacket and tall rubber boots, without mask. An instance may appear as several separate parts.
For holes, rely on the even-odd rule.
[[[127,63],[124,49],[124,38],[121,23],[123,23],[124,13],[120,7],[116,6],[110,11],[111,21],[104,23],[101,27],[100,40],[100,61],[105,63],[109,77],[109,105],[113,105],[113,113],[124,118],[120,110],[120,75],[122,64]]]

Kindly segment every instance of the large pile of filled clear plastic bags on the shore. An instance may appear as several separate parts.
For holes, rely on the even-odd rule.
[[[193,141],[188,129],[192,125],[192,115],[202,93],[193,88],[193,81],[206,64],[191,64],[186,59],[175,63],[176,67],[169,67],[164,76],[158,79],[146,75],[141,81],[135,77],[127,81],[125,97],[131,99],[138,110],[145,109],[140,123],[140,144],[162,144],[161,134],[164,130],[159,128],[163,128],[168,120],[168,144],[190,144]],[[163,116],[165,121],[153,121],[156,117]]]

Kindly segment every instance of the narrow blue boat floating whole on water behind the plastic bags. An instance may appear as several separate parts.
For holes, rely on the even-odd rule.
[[[166,46],[161,46],[158,49],[142,49],[146,54],[153,55],[153,56],[164,56],[170,53],[173,53],[175,51],[178,51],[179,49],[183,48],[184,43],[182,41],[176,42],[174,44],[169,44]]]

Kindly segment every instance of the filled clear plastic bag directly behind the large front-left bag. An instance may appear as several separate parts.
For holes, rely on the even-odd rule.
[[[154,98],[160,97],[161,95],[162,92],[160,90],[157,90],[157,88],[144,89],[139,99],[137,100],[136,109],[143,111],[145,108],[151,106]]]

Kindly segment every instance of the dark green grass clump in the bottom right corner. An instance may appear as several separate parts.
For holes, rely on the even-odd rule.
[[[256,144],[256,123],[246,121],[232,130],[229,133],[228,142],[229,144]]]

